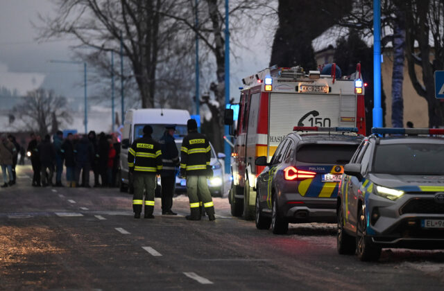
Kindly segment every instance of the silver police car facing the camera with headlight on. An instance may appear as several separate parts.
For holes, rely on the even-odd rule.
[[[361,261],[377,261],[382,247],[443,249],[444,138],[436,135],[444,130],[372,132],[341,178],[339,254],[356,252]]]

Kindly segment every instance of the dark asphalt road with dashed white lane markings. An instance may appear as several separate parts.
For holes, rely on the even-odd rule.
[[[0,189],[0,290],[443,290],[444,252],[336,253],[334,224],[259,231],[214,198],[216,221],[136,220],[117,188],[35,188],[31,168]]]

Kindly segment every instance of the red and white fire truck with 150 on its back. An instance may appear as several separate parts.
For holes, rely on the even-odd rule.
[[[335,65],[334,65],[335,66]],[[336,79],[320,71],[273,66],[244,78],[232,152],[232,187],[228,199],[233,216],[255,217],[256,178],[280,141],[294,126],[358,127],[365,135],[364,82],[359,71]],[[227,109],[228,115],[232,112]],[[232,124],[225,120],[225,124]]]

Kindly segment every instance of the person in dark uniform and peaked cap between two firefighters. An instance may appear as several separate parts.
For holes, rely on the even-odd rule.
[[[176,171],[179,167],[179,152],[174,141],[176,125],[165,126],[166,130],[159,143],[162,148],[162,215],[177,215],[171,211],[174,189],[176,188]]]

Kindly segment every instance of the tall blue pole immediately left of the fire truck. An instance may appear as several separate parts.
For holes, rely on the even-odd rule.
[[[230,24],[228,22],[228,0],[225,0],[225,107],[230,103]],[[225,136],[229,136],[229,127],[225,125]],[[231,148],[228,143],[223,143],[225,152],[225,173],[231,172]]]

